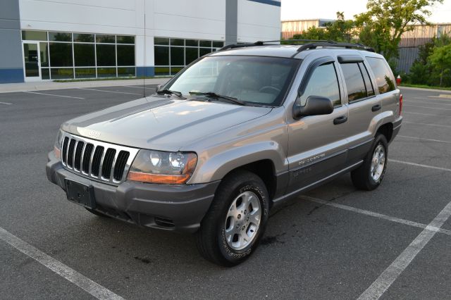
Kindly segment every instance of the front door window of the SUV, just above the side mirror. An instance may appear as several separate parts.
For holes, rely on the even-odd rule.
[[[341,105],[337,73],[333,63],[320,65],[313,71],[309,83],[301,96],[301,106],[305,105],[309,96],[327,97],[333,102],[333,106]]]

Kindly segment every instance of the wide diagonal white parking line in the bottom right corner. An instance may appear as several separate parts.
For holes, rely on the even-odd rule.
[[[451,202],[447,204],[447,206],[440,211],[414,241],[402,251],[402,254],[400,254],[400,256],[398,256],[381,275],[379,275],[376,281],[374,281],[373,284],[359,296],[359,299],[379,299],[435,235],[435,231],[428,230],[428,227],[442,227],[443,223],[450,218],[450,215]]]

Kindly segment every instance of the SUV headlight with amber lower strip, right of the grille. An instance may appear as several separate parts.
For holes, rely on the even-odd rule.
[[[180,185],[190,179],[197,155],[192,152],[140,150],[133,161],[128,180]]]

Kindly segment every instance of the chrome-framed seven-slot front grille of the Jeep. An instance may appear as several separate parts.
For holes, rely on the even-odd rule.
[[[125,180],[138,149],[66,134],[61,151],[66,169],[93,180],[118,184]]]

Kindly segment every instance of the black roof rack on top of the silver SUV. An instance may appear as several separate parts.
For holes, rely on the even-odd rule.
[[[252,47],[252,46],[264,46],[271,45],[267,43],[274,43],[274,42],[280,42],[284,43],[283,45],[298,45],[297,44],[291,44],[292,42],[301,42],[304,43],[302,46],[300,46],[297,49],[297,52],[309,50],[309,49],[316,49],[317,47],[344,47],[346,49],[361,49],[366,50],[370,52],[375,52],[373,48],[369,46],[365,46],[362,44],[357,43],[341,43],[341,42],[334,42],[330,40],[323,40],[323,39],[283,39],[283,40],[273,40],[273,41],[258,41],[254,43],[243,43],[243,44],[230,44],[227,46],[223,46],[219,50],[228,50],[228,49],[235,49],[235,48],[245,48],[245,47]],[[289,42],[290,44],[285,44],[286,42]],[[275,45],[275,44],[272,44]]]

